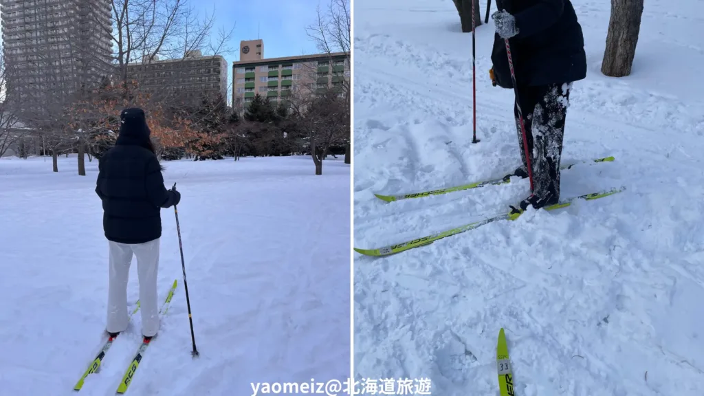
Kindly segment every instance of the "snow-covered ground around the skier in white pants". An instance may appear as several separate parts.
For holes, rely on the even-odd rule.
[[[0,159],[0,395],[71,395],[99,351],[108,244],[76,158]],[[196,344],[173,209],[162,211],[160,299],[179,282],[131,395],[251,395],[251,382],[344,379],[350,369],[350,168],[309,157],[163,162],[177,182]],[[133,261],[128,299],[139,297]],[[160,302],[161,304],[161,302]],[[139,314],[80,395],[114,395]]]

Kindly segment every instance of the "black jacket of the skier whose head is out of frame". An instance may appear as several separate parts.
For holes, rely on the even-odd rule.
[[[498,1],[516,18],[519,33],[509,39],[517,85],[539,86],[586,77],[584,35],[570,0]],[[504,40],[494,35],[491,53],[500,87],[513,88]]]

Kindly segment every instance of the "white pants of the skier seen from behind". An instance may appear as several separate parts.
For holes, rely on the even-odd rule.
[[[119,333],[127,329],[127,279],[130,276],[130,264],[134,253],[137,256],[142,335],[153,337],[159,330],[159,311],[156,302],[159,239],[138,245],[108,242],[110,245],[108,333]]]

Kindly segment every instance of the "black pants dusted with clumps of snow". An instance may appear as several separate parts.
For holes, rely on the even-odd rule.
[[[552,193],[553,198],[548,204],[556,203],[560,198],[560,156],[571,88],[572,83],[518,88],[533,171],[533,194],[546,197]],[[528,164],[516,108],[514,114],[523,171],[527,173]]]

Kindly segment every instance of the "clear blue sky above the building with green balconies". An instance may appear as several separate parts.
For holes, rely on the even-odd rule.
[[[315,23],[318,4],[327,8],[327,0],[197,0],[193,4],[208,14],[215,8],[213,38],[220,27],[234,24],[229,43],[233,51],[224,54],[230,65],[239,61],[240,40],[263,39],[265,58],[315,54],[318,50],[306,35],[306,26]]]

